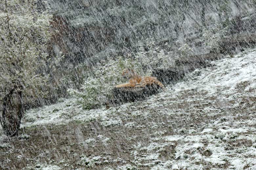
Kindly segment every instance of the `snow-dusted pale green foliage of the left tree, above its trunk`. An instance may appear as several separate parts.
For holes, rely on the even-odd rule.
[[[1,100],[16,84],[30,94],[48,79],[46,73],[39,74],[39,69],[48,56],[52,16],[47,11],[39,13],[35,1],[29,0],[1,1],[0,8]]]

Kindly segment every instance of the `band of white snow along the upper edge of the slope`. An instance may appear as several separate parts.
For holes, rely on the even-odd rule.
[[[234,58],[227,58],[212,61],[213,67],[206,69],[195,70],[190,75],[185,77],[185,81],[178,82],[174,86],[167,86],[167,91],[162,92],[156,96],[150,97],[147,101],[141,103],[148,107],[159,107],[160,105],[169,105],[168,99],[177,98],[181,93],[189,94],[196,91],[197,93],[205,93],[201,99],[208,99],[211,97],[217,98],[220,104],[223,102],[225,108],[240,105],[242,101],[230,105],[230,101],[240,99],[239,96],[248,93],[249,96],[254,97],[256,93],[250,93],[256,89],[256,50],[252,49],[240,53]],[[242,88],[242,89],[241,89]],[[249,97],[248,96],[248,97]],[[194,98],[194,97],[192,97]],[[161,100],[161,102],[156,102]],[[180,99],[179,99],[180,100]],[[193,101],[191,98],[184,99],[189,102]],[[23,119],[22,126],[42,125],[42,124],[65,124],[70,121],[90,121],[95,119],[102,119],[109,113],[112,114],[116,108],[109,110],[83,110],[81,106],[75,104],[74,98],[60,99],[60,102],[55,105],[45,106],[27,111]],[[178,101],[172,101],[175,104]],[[180,102],[180,101],[179,101]],[[134,103],[124,104],[118,108],[125,110],[134,106]],[[210,108],[205,108],[205,110]]]

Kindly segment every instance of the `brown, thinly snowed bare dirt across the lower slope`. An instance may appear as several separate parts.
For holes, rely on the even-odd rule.
[[[192,95],[192,94],[191,94]],[[187,97],[187,96],[182,96]],[[256,98],[251,99],[253,102]],[[214,100],[213,100],[214,101]],[[215,106],[221,107],[221,103],[216,101]],[[245,103],[250,105],[249,102]],[[209,103],[208,105],[211,105]],[[203,109],[208,105],[199,105],[198,102],[183,103],[183,108],[197,105],[197,110]],[[171,106],[170,106],[171,107]],[[141,108],[143,110],[143,108]],[[162,108],[158,108],[162,109]],[[106,161],[97,164],[93,167],[86,167],[86,169],[103,169],[104,167],[117,167],[130,163],[133,160],[133,155],[130,154],[134,150],[133,145],[141,143],[143,146],[148,146],[152,142],[152,138],[157,138],[159,134],[156,131],[161,131],[162,137],[170,135],[190,135],[193,137],[195,134],[188,134],[186,129],[193,128],[194,130],[201,131],[205,125],[210,124],[214,120],[221,120],[222,122],[227,121],[225,118],[222,119],[224,112],[228,111],[229,116],[235,118],[236,121],[246,121],[255,118],[255,111],[247,108],[244,109],[230,109],[223,110],[223,112],[214,115],[202,115],[202,112],[194,112],[193,114],[172,114],[172,115],[159,115],[158,109],[152,110],[152,114],[147,116],[131,116],[130,120],[137,123],[136,127],[126,126],[109,126],[104,127],[98,121],[92,121],[89,123],[77,123],[72,122],[67,125],[43,125],[36,127],[23,128],[20,133],[27,134],[30,137],[24,139],[21,137],[13,137],[8,139],[10,147],[0,148],[0,157],[2,160],[2,169],[22,169],[28,165],[33,165],[35,162],[44,164],[52,164],[63,167],[63,169],[83,169],[84,165],[81,163],[81,155],[90,157],[92,155],[101,155],[101,157],[111,157],[112,161]],[[194,108],[195,109],[195,108]],[[246,112],[246,115],[243,114]],[[120,115],[121,116],[121,115]],[[126,121],[130,121],[126,119]],[[152,123],[155,123],[156,128],[152,128]],[[123,125],[126,122],[123,121]],[[251,126],[247,126],[250,128]],[[255,125],[252,125],[255,127]],[[179,129],[183,129],[179,131]],[[243,135],[246,136],[244,133]],[[102,142],[100,135],[110,137],[107,144]],[[242,135],[242,134],[241,134]],[[215,136],[215,138],[217,138]],[[82,143],[85,139],[96,139],[94,144]],[[158,143],[164,143],[161,139]],[[208,141],[202,141],[204,145],[210,144]],[[228,142],[223,141],[222,144],[226,145],[227,150],[233,150],[239,147],[250,147],[253,141],[235,141]],[[164,146],[165,149],[160,151],[159,161],[166,161],[175,159],[175,147],[179,144],[179,141],[173,141],[170,146]],[[10,151],[11,150],[11,151]],[[152,150],[154,153],[157,149]],[[203,150],[199,148],[202,155],[207,157],[211,155],[212,151]],[[145,153],[144,153],[145,152]],[[141,155],[148,154],[147,150],[142,150]],[[20,159],[17,159],[22,155]],[[117,158],[121,158],[118,160]],[[255,157],[253,157],[255,158]],[[177,158],[176,158],[177,159]],[[256,159],[256,158],[255,158]],[[118,161],[116,161],[118,160]],[[179,160],[179,159],[178,159]],[[151,162],[149,160],[148,162]],[[141,163],[148,163],[147,160]],[[202,161],[203,165],[203,161]],[[227,168],[228,163],[218,168]],[[28,166],[29,167],[29,166]],[[35,166],[36,167],[36,166]],[[38,168],[40,165],[38,165]],[[211,169],[215,166],[207,166],[205,169]],[[138,169],[149,169],[149,167],[138,167]]]

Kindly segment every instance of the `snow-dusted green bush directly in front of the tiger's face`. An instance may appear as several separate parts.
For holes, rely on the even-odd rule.
[[[108,98],[111,98],[111,89],[127,80],[121,78],[124,68],[136,70],[139,74],[143,74],[142,66],[137,59],[123,59],[122,57],[108,58],[98,63],[97,67],[92,70],[81,87],[81,91],[68,89],[69,94],[77,98],[84,109],[93,109],[103,105]]]

